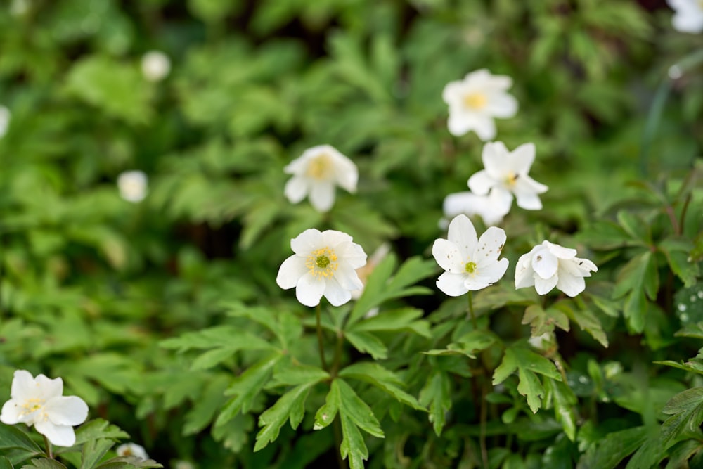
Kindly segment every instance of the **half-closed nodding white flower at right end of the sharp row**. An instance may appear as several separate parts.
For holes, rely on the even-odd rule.
[[[556,287],[575,297],[586,289],[583,278],[590,277],[591,271],[598,271],[598,267],[588,259],[576,257],[575,249],[543,241],[517,259],[515,288],[534,285],[537,293],[545,295]]]

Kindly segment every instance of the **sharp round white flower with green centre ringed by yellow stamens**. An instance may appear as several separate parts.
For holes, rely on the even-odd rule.
[[[352,291],[363,283],[356,269],[366,264],[366,252],[341,231],[307,229],[290,240],[294,255],[283,261],[276,283],[306,306],[316,306],[321,297],[340,306],[352,299]]]

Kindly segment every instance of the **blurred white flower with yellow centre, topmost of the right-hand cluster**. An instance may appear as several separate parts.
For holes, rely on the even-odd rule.
[[[512,117],[517,113],[517,100],[506,91],[512,79],[491,75],[482,68],[463,80],[444,86],[442,98],[449,105],[449,132],[461,136],[473,130],[483,141],[496,137],[494,117]]]

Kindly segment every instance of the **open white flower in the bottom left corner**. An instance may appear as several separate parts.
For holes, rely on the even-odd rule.
[[[26,423],[56,446],[73,446],[73,425],[88,417],[88,405],[77,396],[62,396],[63,380],[44,375],[32,378],[29,371],[15,371],[11,399],[2,406],[0,421],[8,425]]]

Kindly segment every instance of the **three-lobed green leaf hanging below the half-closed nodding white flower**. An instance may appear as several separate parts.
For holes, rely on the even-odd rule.
[[[527,397],[527,405],[533,413],[537,413],[542,403],[541,398],[544,396],[544,387],[536,373],[559,381],[562,379],[561,375],[551,361],[530,349],[508,347],[505,349],[503,361],[494,371],[493,384],[503,383],[515,370],[520,379],[517,392]]]

